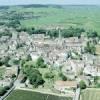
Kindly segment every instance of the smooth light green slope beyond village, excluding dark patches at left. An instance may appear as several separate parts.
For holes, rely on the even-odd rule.
[[[20,11],[24,11],[23,9]],[[26,11],[26,9],[25,9]],[[27,8],[27,11],[34,12],[34,15],[41,16],[38,19],[21,21],[23,26],[47,27],[47,26],[81,26],[86,29],[93,29],[100,32],[100,7],[89,6],[68,6],[66,8]]]

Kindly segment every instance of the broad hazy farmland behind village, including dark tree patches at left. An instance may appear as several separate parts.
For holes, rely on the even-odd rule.
[[[9,13],[7,13],[7,11]],[[96,30],[100,34],[100,6],[18,6],[0,15],[18,18],[24,27],[56,28],[69,26]],[[17,16],[18,15],[18,16]],[[20,17],[19,17],[20,16]],[[24,18],[23,18],[24,16]],[[9,19],[10,19],[9,18]],[[6,19],[6,18],[5,18]],[[4,20],[4,17],[3,17]]]

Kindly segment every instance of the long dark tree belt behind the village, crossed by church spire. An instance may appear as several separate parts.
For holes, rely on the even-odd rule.
[[[70,27],[68,29],[51,29],[51,30],[18,27],[16,28],[16,30],[18,32],[21,31],[28,32],[30,35],[45,34],[45,35],[49,35],[51,38],[57,38],[59,37],[59,35],[64,38],[81,37],[82,32],[85,32],[83,28],[73,28],[73,27]]]

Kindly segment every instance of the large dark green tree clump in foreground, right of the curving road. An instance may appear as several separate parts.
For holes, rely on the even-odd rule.
[[[29,79],[30,84],[34,87],[38,87],[39,85],[44,84],[44,79],[42,78],[42,74],[39,72],[38,68],[45,68],[47,65],[44,63],[42,57],[39,57],[36,62],[29,60],[22,60],[21,67],[23,73]]]

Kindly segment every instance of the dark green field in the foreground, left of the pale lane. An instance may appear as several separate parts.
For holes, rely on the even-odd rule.
[[[58,97],[31,91],[15,90],[7,100],[72,100],[70,97]]]

